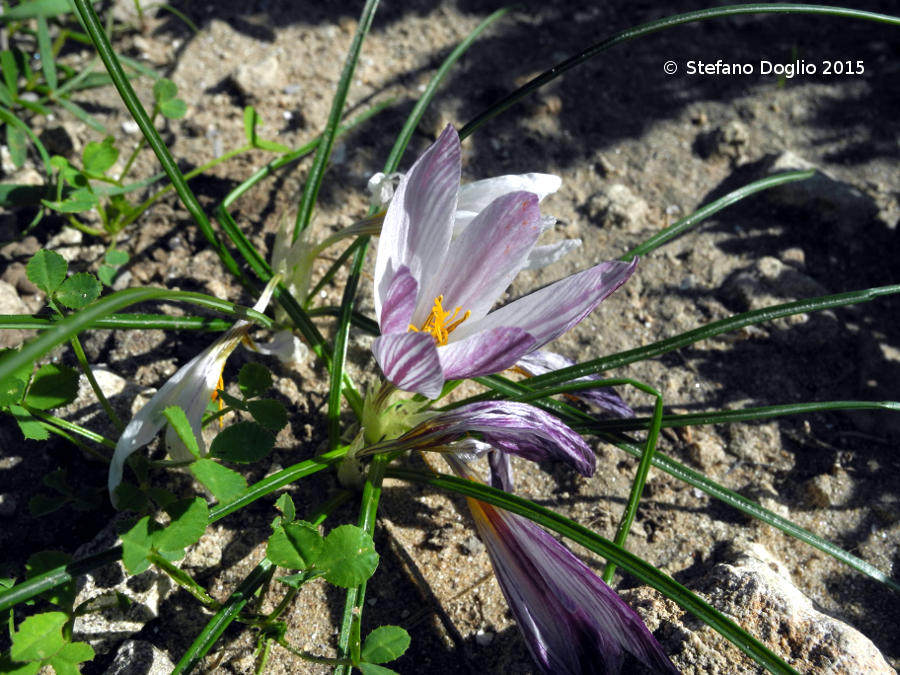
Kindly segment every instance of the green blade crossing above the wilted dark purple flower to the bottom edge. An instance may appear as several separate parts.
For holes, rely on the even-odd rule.
[[[516,497],[502,490],[454,476],[422,473],[402,468],[388,469],[387,475],[391,478],[430,485],[441,490],[472,497],[529,518],[542,527],[558,532],[581,544],[588,550],[603,556],[610,562],[628,571],[642,583],[652,586],[660,593],[665,594],[666,597],[677,602],[681,607],[730,640],[754,661],[768,669],[769,672],[793,674],[797,672],[762,642],[734,623],[734,621],[671,577],[660,572],[653,565],[550,509],[545,509],[527,499]]]

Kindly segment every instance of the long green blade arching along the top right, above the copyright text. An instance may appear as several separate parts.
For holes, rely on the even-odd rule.
[[[727,5],[724,7],[711,7],[709,9],[701,9],[695,12],[686,12],[685,14],[676,14],[664,19],[650,21],[648,23],[619,31],[612,36],[602,40],[595,45],[579,52],[575,56],[556,64],[550,70],[541,73],[534,79],[526,82],[523,86],[508,94],[503,99],[490,106],[487,110],[479,113],[472,121],[460,129],[459,137],[465,138],[469,136],[479,127],[488,121],[511,108],[513,105],[521,101],[529,94],[537,91],[545,84],[552,82],[563,73],[568,72],[572,68],[584,63],[588,59],[615,47],[623,42],[634,40],[635,38],[644,37],[660,30],[674,28],[695,21],[706,21],[708,19],[719,19],[726,16],[735,16],[738,14],[808,14],[818,16],[833,16],[842,19],[862,19],[867,21],[875,21],[878,23],[886,23],[894,26],[900,26],[900,18],[888,16],[887,14],[878,14],[876,12],[866,12],[858,9],[848,9],[845,7],[828,7],[826,5],[800,5],[792,3],[751,3],[747,5]]]

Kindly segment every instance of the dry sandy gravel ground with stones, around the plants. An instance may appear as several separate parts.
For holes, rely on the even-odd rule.
[[[356,27],[357,4],[174,2],[172,6],[200,27],[199,34],[159,13],[148,18],[144,30],[121,33],[116,46],[177,83],[188,114],[182,121],[167,123],[165,137],[187,168],[243,142],[242,108],[248,103],[259,111],[267,137],[289,146],[312,138],[327,115]],[[387,97],[396,98],[396,104],[338,142],[315,218],[318,235],[364,213],[366,180],[381,167],[422,87],[495,4],[383,3],[363,50],[349,104],[354,112]],[[465,123],[576,50],[615,30],[704,4],[682,1],[663,9],[630,2],[524,3],[491,28],[452,72],[413,138],[403,167],[445,123]],[[855,5],[896,9],[887,1]],[[120,2],[116,11],[133,20],[130,7]],[[545,202],[545,210],[559,223],[546,236],[584,241],[580,250],[555,265],[523,273],[510,297],[615,258],[677,218],[778,168],[810,165],[820,173],[808,184],[752,197],[647,256],[625,287],[554,348],[589,359],[751,308],[896,283],[900,251],[896,35],[896,28],[884,25],[822,17],[734,17],[684,26],[619,46],[489,123],[463,146],[465,179],[527,171],[561,175],[563,188]],[[90,55],[73,53],[68,58],[72,63],[86,62]],[[717,59],[752,64],[756,72],[735,76],[686,72],[689,61]],[[797,59],[816,64],[820,73],[824,61],[860,61],[865,72],[792,78],[759,74],[761,60]],[[664,72],[669,60],[678,67],[674,75]],[[149,83],[137,86],[148,99]],[[136,142],[137,137],[127,133],[128,118],[114,92],[91,92],[79,102],[90,106],[125,146]],[[96,138],[64,116],[35,124],[63,127],[76,154]],[[263,153],[243,155],[198,178],[193,187],[204,203],[214,205],[266,160]],[[155,167],[146,155],[137,171],[148,174]],[[300,163],[238,202],[235,218],[263,250],[271,245],[280,219],[292,218],[290,209],[306,170],[307,164]],[[15,219],[16,214],[3,215],[7,236]],[[21,263],[39,243],[55,237],[53,246],[72,260],[75,269],[94,269],[102,255],[102,242],[65,230],[60,233],[58,221],[46,222],[36,239],[0,251],[3,277],[9,282],[3,297],[13,307],[8,311],[40,305],[30,293],[33,289],[21,280]],[[214,254],[174,200],[159,204],[120,242],[132,255],[123,283],[252,300],[222,274]],[[323,303],[337,301],[340,281],[323,293]],[[366,282],[358,309],[372,315],[369,279]],[[812,400],[897,399],[897,309],[897,300],[887,297],[854,308],[801,315],[706,340],[616,375],[654,386],[669,410],[682,412]],[[323,330],[328,326],[323,323]],[[86,346],[93,362],[106,364],[124,378],[114,400],[128,411],[139,390],[159,386],[209,340],[196,334],[104,331],[89,337]],[[359,337],[350,350],[351,372],[361,383],[376,373],[369,343],[369,338]],[[62,358],[72,360],[69,354]],[[226,380],[230,377],[233,382],[249,358],[236,354]],[[271,466],[256,468],[251,479],[311,456],[324,439],[326,380],[321,365],[312,361],[269,365],[293,416],[279,435]],[[629,389],[623,394],[639,412],[650,410],[652,401],[647,397]],[[102,427],[95,405],[75,408],[69,411],[73,418],[89,417]],[[105,482],[104,469],[86,463],[60,443],[22,445],[18,431],[6,420],[2,424],[0,538],[3,559],[20,573],[19,565],[28,554],[44,548],[74,551],[93,539],[112,513],[63,511],[32,519],[27,502],[41,489],[35,486],[44,474],[62,467],[82,484],[99,487]],[[896,578],[898,440],[896,414],[822,414],[669,432],[663,435],[660,450]],[[557,466],[516,463],[519,490],[611,538],[636,462],[601,443],[597,455],[597,473],[591,479]],[[183,476],[171,480],[190,489]],[[335,485],[333,476],[319,474],[292,487],[298,513],[315,508]],[[274,515],[271,500],[264,501],[211,528],[185,562],[218,599],[224,599],[263,555]],[[394,667],[400,672],[531,672],[533,666],[490,576],[484,547],[474,536],[462,500],[389,482],[379,513],[376,543],[381,565],[369,585],[365,624],[371,628],[396,623],[410,631],[412,647]],[[334,522],[355,518],[355,507],[348,506]],[[100,539],[94,545],[103,543]],[[801,671],[891,672],[884,661],[883,667],[878,665],[876,648],[887,663],[900,664],[900,603],[895,595],[660,471],[651,473],[629,548],[706,594]],[[595,556],[579,553],[598,569],[602,565]],[[812,605],[804,605],[806,600],[786,587],[785,579]],[[158,580],[143,581],[151,595],[159,590]],[[117,580],[104,577],[93,582],[108,586]],[[654,592],[633,588],[635,582],[627,575],[615,583],[685,672],[758,672],[735,648],[681,617]],[[263,606],[274,606],[279,594],[280,589],[273,588]],[[341,606],[342,594],[334,588],[310,584],[284,617],[288,640],[301,649],[332,654]],[[147,642],[177,660],[208,619],[182,592],[162,593],[157,609],[157,618],[133,636],[138,642],[120,655],[120,661],[146,662]],[[874,647],[840,624],[829,623],[816,610],[855,627]],[[110,639],[103,643],[104,651],[85,672],[104,672],[125,636],[106,637]],[[232,627],[204,668],[253,672],[253,649],[252,634]],[[159,658],[165,655],[160,653]],[[320,670],[324,672],[275,648],[267,672]]]

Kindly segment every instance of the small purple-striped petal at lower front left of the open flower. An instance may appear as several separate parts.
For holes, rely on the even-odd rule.
[[[400,389],[437,398],[444,373],[434,338],[429,333],[390,333],[372,345],[384,376]]]

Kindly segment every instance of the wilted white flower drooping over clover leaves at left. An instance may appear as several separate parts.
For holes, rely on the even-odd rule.
[[[275,283],[276,280],[273,279],[253,306],[257,312],[265,310],[269,304]],[[116,488],[122,482],[125,460],[156,438],[159,430],[166,425],[167,421],[163,415],[166,408],[178,406],[184,410],[201,451],[205,449],[201,433],[203,413],[213,392],[221,387],[225,361],[241,340],[247,337],[250,325],[249,321],[243,319],[235,323],[218,340],[179,368],[178,372],[170,377],[131,419],[119,437],[119,442],[116,443],[116,450],[109,465],[108,487],[113,504],[116,503]],[[166,451],[176,461],[187,462],[194,459],[172,427],[166,430]]]

